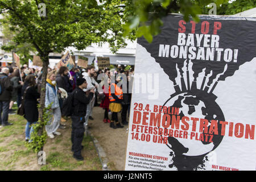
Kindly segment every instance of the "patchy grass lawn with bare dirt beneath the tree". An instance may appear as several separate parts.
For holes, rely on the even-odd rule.
[[[44,146],[46,165],[40,166],[36,153],[24,145],[26,119],[19,115],[9,115],[11,126],[0,128],[0,170],[61,170],[87,171],[102,170],[96,148],[90,137],[84,137],[82,156],[84,161],[77,161],[71,152],[71,119],[66,123],[66,129],[58,130],[61,135],[54,139],[47,138]]]

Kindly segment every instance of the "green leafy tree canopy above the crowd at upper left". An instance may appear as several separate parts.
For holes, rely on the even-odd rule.
[[[46,16],[39,16],[45,3]],[[123,38],[122,1],[3,0],[2,23],[9,23],[16,44],[31,43],[40,56],[61,52],[69,46],[84,49],[92,43],[109,42],[112,51],[126,45]],[[135,39],[135,37],[133,37]]]

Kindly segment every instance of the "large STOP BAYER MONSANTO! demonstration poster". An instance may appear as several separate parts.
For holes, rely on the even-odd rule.
[[[125,170],[255,170],[256,18],[199,18],[138,39]]]

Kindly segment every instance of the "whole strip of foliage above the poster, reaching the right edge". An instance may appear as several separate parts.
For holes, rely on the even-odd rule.
[[[208,6],[210,3],[216,4],[217,15],[233,15],[256,7],[256,0],[130,0],[125,3],[129,6],[127,10],[131,10],[123,25],[125,35],[135,31],[138,38],[144,36],[148,42],[160,33],[162,18],[170,13],[183,14],[187,22],[189,18],[199,22],[197,15],[208,15],[213,8]]]

